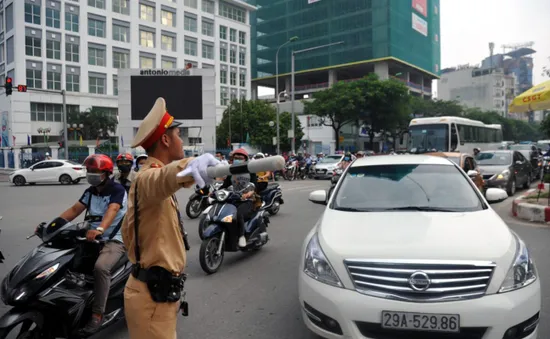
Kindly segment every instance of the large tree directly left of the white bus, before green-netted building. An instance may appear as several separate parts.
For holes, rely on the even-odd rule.
[[[371,148],[375,133],[385,132],[395,137],[410,121],[410,95],[407,86],[397,80],[379,80],[375,74],[356,81],[362,93],[358,103],[359,119],[368,126]]]

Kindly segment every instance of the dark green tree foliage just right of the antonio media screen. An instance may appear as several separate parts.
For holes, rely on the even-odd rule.
[[[287,138],[287,131],[291,129],[291,115],[283,112],[279,116],[281,149],[290,149],[291,140]],[[231,142],[244,143],[247,135],[250,144],[260,149],[270,148],[273,137],[277,136],[277,110],[264,100],[233,100],[223,112],[221,123],[216,128],[216,144],[218,147],[227,147],[229,140],[229,122],[231,121]],[[270,122],[275,125],[269,126]],[[299,144],[304,136],[300,120],[295,120],[295,136]]]

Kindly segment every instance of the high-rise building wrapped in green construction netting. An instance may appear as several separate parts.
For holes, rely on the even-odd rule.
[[[292,51],[297,51],[296,100],[369,73],[404,82],[412,95],[432,96],[432,80],[440,71],[439,0],[247,2],[257,6],[251,14],[253,97],[258,87],[274,89],[278,74],[280,98],[285,100],[282,92],[291,92]],[[339,44],[322,47],[332,43]],[[325,148],[327,140],[334,143],[330,127],[312,124],[319,133],[312,131],[310,142]],[[348,139],[357,137],[350,131],[344,143],[356,144]]]

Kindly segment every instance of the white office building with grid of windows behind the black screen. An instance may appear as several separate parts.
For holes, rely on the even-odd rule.
[[[28,86],[0,95],[9,142],[40,140],[41,127],[59,137],[62,89],[71,110],[118,115],[119,69],[214,69],[221,120],[228,100],[250,97],[253,10],[240,0],[0,0],[0,82]]]

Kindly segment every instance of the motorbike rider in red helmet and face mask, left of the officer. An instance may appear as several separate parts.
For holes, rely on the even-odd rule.
[[[92,317],[82,329],[84,334],[95,333],[103,321],[103,313],[111,285],[111,269],[125,255],[120,226],[127,209],[126,190],[114,182],[113,160],[104,154],[93,154],[84,160],[86,179],[90,184],[82,197],[60,215],[67,221],[76,219],[83,212],[90,223],[86,233],[88,241],[101,237],[107,242],[94,264],[94,301]]]

